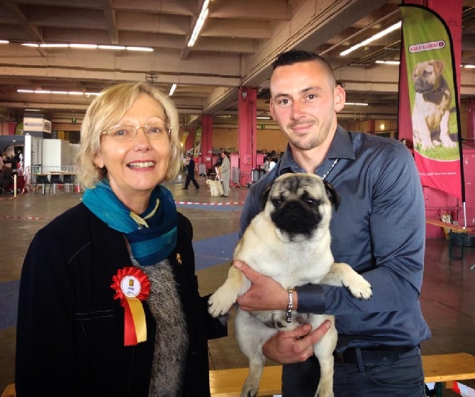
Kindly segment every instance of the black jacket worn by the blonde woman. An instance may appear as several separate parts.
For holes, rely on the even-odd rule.
[[[226,330],[207,313],[194,272],[193,230],[179,214],[169,255],[189,334],[184,396],[209,396],[207,339]],[[181,264],[177,263],[177,253]],[[144,303],[147,341],[123,346],[123,313],[111,289],[132,266],[122,233],[79,204],[40,230],[21,274],[16,346],[18,397],[148,395],[155,320]]]

